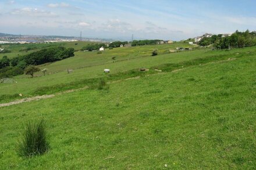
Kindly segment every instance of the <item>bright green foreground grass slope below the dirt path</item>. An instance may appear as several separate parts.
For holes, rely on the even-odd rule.
[[[0,108],[0,169],[255,169],[255,67],[244,56]],[[42,117],[51,150],[17,157],[22,123]]]

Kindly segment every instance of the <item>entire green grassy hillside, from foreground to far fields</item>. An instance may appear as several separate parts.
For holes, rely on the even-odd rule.
[[[256,48],[169,52],[179,46],[190,47],[75,52],[0,84],[1,103],[54,94],[0,107],[0,169],[254,169]],[[100,78],[109,88],[94,87]],[[20,158],[22,124],[40,118],[51,149]]]

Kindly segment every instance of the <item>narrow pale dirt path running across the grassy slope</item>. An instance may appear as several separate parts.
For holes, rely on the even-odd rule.
[[[200,64],[199,66],[204,66],[204,65],[207,65],[207,64],[214,64],[214,63],[229,62],[229,61],[232,61],[232,60],[236,60],[236,58],[222,60],[222,61],[219,61],[219,62],[211,62],[211,63],[206,63],[206,64]],[[188,68],[188,67],[186,67],[186,68]],[[173,70],[171,72],[159,72],[157,74],[175,73],[177,71],[181,71],[181,70],[184,70],[186,68],[180,68],[180,69],[177,69],[177,70]],[[149,74],[148,76],[150,76],[150,75],[157,75],[157,74]],[[126,78],[125,80],[138,79],[138,78],[140,78],[140,76]],[[121,82],[121,81],[122,81],[122,79],[117,80],[117,81],[108,82],[108,84],[113,84],[113,83],[117,83],[117,82]],[[14,104],[20,104],[20,103],[24,103],[24,102],[32,102],[32,101],[41,100],[41,99],[48,99],[48,98],[52,98],[52,97],[57,96],[57,95],[63,95],[65,93],[77,92],[77,91],[81,91],[81,90],[84,90],[84,89],[88,89],[88,86],[85,86],[85,87],[79,88],[79,89],[71,89],[71,90],[55,93],[55,95],[52,94],[52,95],[42,95],[42,96],[27,97],[27,98],[15,100],[15,101],[9,102],[9,103],[2,103],[2,104],[0,104],[0,107],[12,106]]]

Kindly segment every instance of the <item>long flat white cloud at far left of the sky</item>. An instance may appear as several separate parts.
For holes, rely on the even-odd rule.
[[[57,17],[53,12],[49,12],[46,10],[40,10],[37,8],[22,8],[22,9],[15,9],[10,12],[12,15],[26,15],[26,16],[33,16],[33,17]]]

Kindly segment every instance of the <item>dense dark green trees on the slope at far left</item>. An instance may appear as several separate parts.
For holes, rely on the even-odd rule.
[[[42,49],[28,55],[14,57],[13,59],[8,59],[7,56],[3,56],[2,59],[0,59],[0,78],[23,74],[25,68],[31,65],[37,66],[73,56],[74,49],[65,48],[63,46]]]

